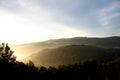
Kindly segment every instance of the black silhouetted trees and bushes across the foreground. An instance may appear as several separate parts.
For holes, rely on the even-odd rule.
[[[98,63],[87,60],[82,63],[59,67],[36,67],[16,61],[13,51],[3,44],[0,47],[0,78],[3,80],[120,80],[120,59]]]

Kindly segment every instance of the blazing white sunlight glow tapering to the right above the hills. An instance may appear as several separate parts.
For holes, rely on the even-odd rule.
[[[83,31],[58,23],[42,22],[39,24],[27,17],[9,11],[0,11],[0,22],[0,40],[11,44],[87,35]]]

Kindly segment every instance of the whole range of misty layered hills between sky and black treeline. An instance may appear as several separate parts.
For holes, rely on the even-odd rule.
[[[74,37],[28,43],[13,47],[16,53],[29,55],[26,59],[36,65],[58,66],[82,60],[115,59],[120,53],[120,37]]]

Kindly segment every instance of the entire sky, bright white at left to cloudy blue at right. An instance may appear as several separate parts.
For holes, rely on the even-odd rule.
[[[0,42],[120,36],[120,0],[0,0]]]

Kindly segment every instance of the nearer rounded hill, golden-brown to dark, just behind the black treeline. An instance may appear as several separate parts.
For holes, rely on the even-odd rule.
[[[119,57],[120,49],[100,48],[88,45],[68,45],[59,48],[44,49],[28,58],[39,66],[58,66],[79,63],[87,59],[104,61]]]

